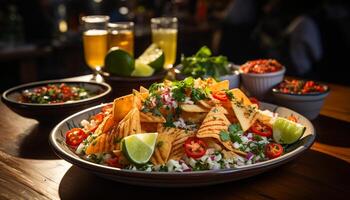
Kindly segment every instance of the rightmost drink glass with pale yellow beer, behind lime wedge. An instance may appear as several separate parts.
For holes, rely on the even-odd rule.
[[[152,18],[151,29],[153,43],[156,43],[164,51],[164,68],[172,68],[176,60],[177,18]]]

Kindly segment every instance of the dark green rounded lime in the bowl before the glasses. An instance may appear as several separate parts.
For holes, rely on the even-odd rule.
[[[130,76],[134,68],[134,58],[122,49],[111,48],[105,57],[105,70],[112,75]]]

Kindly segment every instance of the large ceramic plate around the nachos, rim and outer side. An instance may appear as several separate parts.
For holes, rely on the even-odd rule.
[[[309,120],[300,114],[284,107],[272,104],[261,103],[262,109],[268,109],[278,113],[281,117],[288,117],[291,114],[299,119],[299,122],[306,126],[306,131],[302,138],[288,146],[286,153],[281,157],[232,169],[207,170],[193,172],[145,172],[119,169],[105,165],[95,164],[82,159],[76,155],[65,143],[65,133],[79,124],[83,119],[100,112],[104,105],[95,106],[79,113],[76,113],[60,122],[51,132],[49,141],[55,153],[66,161],[97,174],[98,176],[114,181],[143,186],[158,187],[195,187],[204,185],[214,185],[229,181],[235,181],[250,176],[263,173],[279,165],[293,160],[302,155],[313,144],[316,133]]]

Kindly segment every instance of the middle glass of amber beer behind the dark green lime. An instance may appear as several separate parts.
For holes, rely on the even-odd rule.
[[[134,22],[108,23],[108,48],[112,47],[134,55]]]

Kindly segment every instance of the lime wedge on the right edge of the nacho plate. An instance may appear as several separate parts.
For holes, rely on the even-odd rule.
[[[280,144],[292,144],[303,136],[306,127],[278,117],[272,125],[273,139]]]

